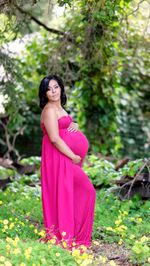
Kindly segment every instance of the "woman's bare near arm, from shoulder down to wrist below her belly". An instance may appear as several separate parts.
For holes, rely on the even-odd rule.
[[[69,148],[64,140],[59,136],[57,115],[53,108],[46,108],[44,110],[43,122],[50,141],[56,146],[59,151],[73,160],[76,154],[74,154],[74,152]]]

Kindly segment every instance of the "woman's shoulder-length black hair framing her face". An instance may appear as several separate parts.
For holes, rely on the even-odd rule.
[[[41,109],[43,109],[44,106],[48,103],[48,98],[46,97],[46,92],[48,91],[48,84],[49,84],[51,79],[56,80],[59,87],[61,88],[61,95],[60,95],[61,105],[64,106],[67,102],[67,96],[65,94],[64,83],[63,83],[62,79],[60,77],[58,77],[57,75],[48,75],[48,76],[45,76],[41,80],[40,86],[39,86],[39,98],[40,98],[39,106]]]

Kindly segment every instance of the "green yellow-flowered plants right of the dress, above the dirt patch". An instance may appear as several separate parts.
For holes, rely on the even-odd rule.
[[[150,203],[139,195],[122,202],[113,193],[101,189],[97,191],[94,237],[125,246],[130,250],[131,262],[148,265],[149,210]]]

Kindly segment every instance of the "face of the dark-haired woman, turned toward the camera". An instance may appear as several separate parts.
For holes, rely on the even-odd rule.
[[[56,80],[51,79],[48,84],[48,91],[46,92],[46,96],[49,101],[58,101],[60,100],[61,88],[59,87]]]

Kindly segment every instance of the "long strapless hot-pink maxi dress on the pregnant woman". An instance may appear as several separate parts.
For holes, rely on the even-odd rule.
[[[96,202],[96,190],[82,169],[89,142],[80,130],[67,130],[72,121],[71,115],[58,119],[59,135],[82,158],[78,164],[54,146],[41,123],[41,196],[45,233],[48,239],[55,236],[56,243],[64,240],[69,249],[73,242],[76,246],[90,247]]]

